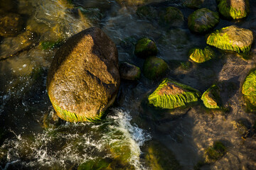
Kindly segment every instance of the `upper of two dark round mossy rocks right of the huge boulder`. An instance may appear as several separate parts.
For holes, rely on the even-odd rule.
[[[154,41],[149,40],[149,38],[142,38],[137,42],[134,49],[134,54],[137,57],[150,57],[157,54],[157,47]]]

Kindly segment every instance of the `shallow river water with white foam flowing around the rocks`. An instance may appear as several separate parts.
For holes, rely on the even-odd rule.
[[[204,35],[188,30],[188,15],[195,10],[178,0],[150,2],[156,13],[167,6],[179,8],[183,24],[166,28],[154,16],[139,16],[138,6],[114,0],[0,0],[0,12],[19,13],[25,21],[16,37],[0,37],[0,169],[78,169],[82,163],[97,164],[102,159],[112,162],[111,169],[154,169],[147,162],[152,145],[162,152],[156,160],[171,159],[162,169],[195,169],[203,162],[206,148],[217,140],[227,153],[200,169],[256,169],[256,135],[244,136],[234,128],[237,120],[246,122],[249,129],[255,125],[256,115],[245,111],[240,86],[255,68],[256,41],[247,60],[235,52],[214,49],[215,60],[188,62],[188,50],[206,46]],[[205,0],[202,7],[218,10],[215,0]],[[220,18],[215,29],[234,24],[256,35],[255,0],[250,0],[247,18]],[[146,96],[161,79],[150,81],[142,74],[139,81],[121,82],[117,100],[101,122],[59,120],[46,91],[50,62],[62,42],[91,26],[101,28],[114,41],[120,63],[141,69],[144,60],[134,55],[134,45],[140,38],[154,40],[157,57],[170,67],[166,77],[201,93],[220,83],[228,111],[209,111],[202,104],[185,111],[151,108]],[[47,47],[52,42],[57,43]]]

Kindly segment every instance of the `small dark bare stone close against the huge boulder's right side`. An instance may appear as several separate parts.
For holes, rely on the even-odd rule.
[[[141,71],[134,64],[124,62],[119,66],[120,76],[122,79],[137,80],[140,77]]]

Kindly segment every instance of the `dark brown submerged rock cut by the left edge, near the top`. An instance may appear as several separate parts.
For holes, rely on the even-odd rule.
[[[23,20],[16,13],[0,15],[0,36],[14,37],[21,31]]]

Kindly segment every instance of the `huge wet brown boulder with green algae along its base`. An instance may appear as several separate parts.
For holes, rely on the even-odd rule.
[[[73,35],[56,52],[47,77],[50,101],[70,122],[98,120],[119,88],[117,48],[99,28]]]

